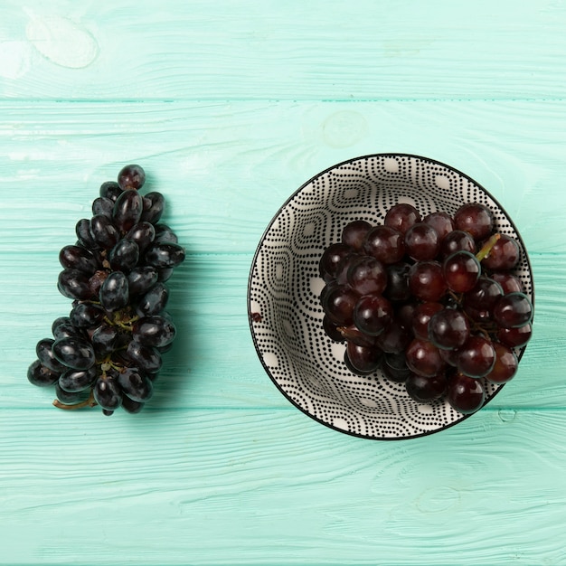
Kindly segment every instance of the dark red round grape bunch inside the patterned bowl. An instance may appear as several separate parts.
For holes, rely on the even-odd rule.
[[[531,337],[533,305],[514,275],[520,256],[480,203],[424,218],[398,203],[380,225],[349,222],[319,262],[325,333],[346,344],[353,373],[381,370],[414,401],[445,398],[472,413],[486,382],[514,377]]]

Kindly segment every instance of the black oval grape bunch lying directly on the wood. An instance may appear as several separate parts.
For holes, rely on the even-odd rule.
[[[37,343],[27,377],[33,385],[54,385],[53,404],[61,409],[142,410],[173,344],[165,282],[184,248],[159,222],[163,194],[139,192],[145,180],[142,167],[126,165],[118,182],[103,183],[92,217],[77,222],[77,241],[59,253],[58,288],[72,299],[71,312]]]

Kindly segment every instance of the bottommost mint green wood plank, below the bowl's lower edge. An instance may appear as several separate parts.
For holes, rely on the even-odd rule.
[[[373,442],[295,411],[2,410],[1,561],[561,564],[563,417]]]

